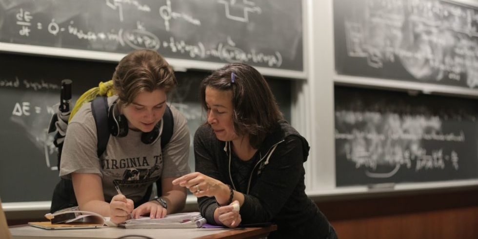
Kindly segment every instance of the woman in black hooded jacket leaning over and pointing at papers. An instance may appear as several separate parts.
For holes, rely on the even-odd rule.
[[[309,145],[282,118],[259,72],[228,64],[201,82],[200,101],[207,123],[194,137],[197,172],[173,184],[198,197],[208,223],[272,222],[278,231],[270,238],[336,238],[305,194],[303,162]]]

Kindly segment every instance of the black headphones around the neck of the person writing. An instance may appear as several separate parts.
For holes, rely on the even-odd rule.
[[[119,114],[119,110],[117,110],[116,102],[114,102],[109,110],[108,113],[108,126],[112,136],[115,137],[125,137],[128,135],[128,119],[122,114]],[[143,132],[141,134],[141,142],[145,144],[153,144],[161,135],[160,131],[162,130],[162,120],[156,124],[152,131],[150,132]]]

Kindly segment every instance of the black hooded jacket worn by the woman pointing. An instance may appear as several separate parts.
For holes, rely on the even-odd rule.
[[[259,147],[248,192],[240,208],[242,224],[273,222],[278,231],[269,238],[327,238],[330,224],[317,205],[305,194],[303,162],[309,155],[306,139],[282,120]],[[208,125],[194,137],[196,171],[229,185],[231,181],[229,142],[216,138]],[[218,207],[214,197],[198,199],[199,210],[208,223],[215,223]]]

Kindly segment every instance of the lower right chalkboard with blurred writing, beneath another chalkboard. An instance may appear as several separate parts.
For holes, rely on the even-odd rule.
[[[478,178],[477,101],[335,87],[337,186]]]

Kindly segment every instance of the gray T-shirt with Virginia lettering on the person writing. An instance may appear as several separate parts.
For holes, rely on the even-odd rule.
[[[111,106],[117,99],[117,96],[109,97],[108,105]],[[174,129],[163,151],[160,139],[151,145],[144,144],[141,132],[129,130],[128,135],[122,138],[110,135],[99,160],[91,103],[84,103],[68,124],[61,153],[60,177],[71,179],[71,173],[98,174],[106,201],[111,201],[118,194],[115,190],[115,183],[118,183],[126,197],[138,202],[157,179],[190,173],[187,121],[174,106],[170,108]]]

